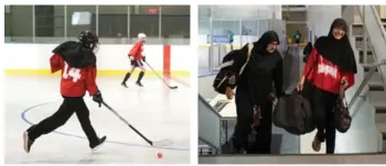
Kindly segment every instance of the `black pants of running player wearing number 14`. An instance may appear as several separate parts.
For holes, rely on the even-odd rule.
[[[89,141],[89,145],[97,145],[99,139],[95,133],[95,130],[89,121],[89,111],[83,100],[83,97],[63,97],[64,101],[58,110],[51,117],[44,119],[39,124],[31,126],[29,132],[29,137],[35,140],[43,134],[49,134],[55,129],[62,126],[68,121],[68,119],[76,113],[77,119],[81,122],[83,131],[86,133]]]

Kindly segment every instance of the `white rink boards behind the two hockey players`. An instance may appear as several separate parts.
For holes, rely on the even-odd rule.
[[[50,69],[50,57],[56,44],[4,44],[4,69]],[[132,45],[100,45],[97,53],[98,69],[126,70],[130,68],[128,53]],[[170,46],[170,70],[189,71],[191,55],[190,46]],[[147,62],[156,69],[163,70],[163,45],[146,45]]]

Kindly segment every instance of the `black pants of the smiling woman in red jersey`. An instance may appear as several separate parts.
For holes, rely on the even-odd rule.
[[[315,88],[312,95],[312,109],[317,123],[317,139],[325,141],[326,154],[334,154],[335,151],[335,124],[333,109],[337,95]]]

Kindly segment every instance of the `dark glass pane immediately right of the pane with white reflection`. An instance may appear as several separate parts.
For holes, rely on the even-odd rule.
[[[98,7],[98,35],[99,37],[128,37],[128,5],[99,5]],[[109,43],[104,38],[104,43]]]

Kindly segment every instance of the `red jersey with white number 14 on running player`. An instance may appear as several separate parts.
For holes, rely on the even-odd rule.
[[[54,54],[51,59],[51,73],[62,70],[61,93],[65,97],[83,97],[86,91],[94,96],[98,91],[96,80],[96,67],[74,68],[68,66],[61,55]]]

